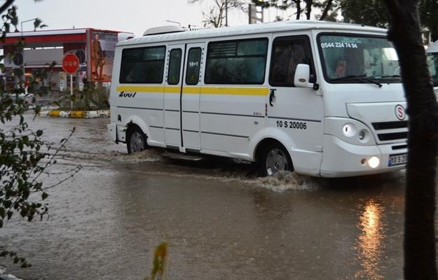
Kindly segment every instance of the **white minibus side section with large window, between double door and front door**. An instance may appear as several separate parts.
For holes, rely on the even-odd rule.
[[[251,140],[266,123],[269,34],[207,42],[200,94],[203,150],[253,160]]]

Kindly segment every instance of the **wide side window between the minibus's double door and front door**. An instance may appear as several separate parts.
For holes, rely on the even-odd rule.
[[[219,41],[208,44],[206,84],[253,84],[265,80],[268,39]]]

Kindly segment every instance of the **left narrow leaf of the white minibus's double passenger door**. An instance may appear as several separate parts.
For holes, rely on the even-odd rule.
[[[167,148],[182,146],[181,94],[184,45],[169,45],[164,90],[164,129]]]

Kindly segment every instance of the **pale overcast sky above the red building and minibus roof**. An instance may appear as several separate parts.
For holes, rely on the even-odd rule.
[[[174,25],[166,20],[202,27],[202,11],[207,10],[205,4],[188,5],[186,0],[15,0],[14,4],[18,6],[20,23],[41,18],[48,25],[46,29],[92,27],[133,32],[135,36],[142,36],[150,27]],[[233,13],[228,22],[245,25],[247,14]],[[23,23],[24,31],[33,29],[32,22]]]

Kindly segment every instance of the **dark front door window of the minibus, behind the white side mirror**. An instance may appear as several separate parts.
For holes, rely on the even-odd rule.
[[[295,69],[298,64],[310,66],[310,83],[315,83],[315,68],[308,37],[275,38],[269,83],[282,87],[294,87]]]

